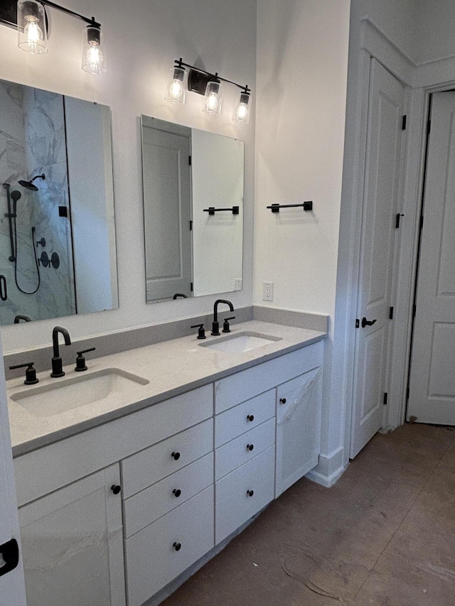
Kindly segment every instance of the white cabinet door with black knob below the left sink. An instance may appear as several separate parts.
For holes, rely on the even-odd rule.
[[[119,465],[18,510],[27,606],[124,606]]]

